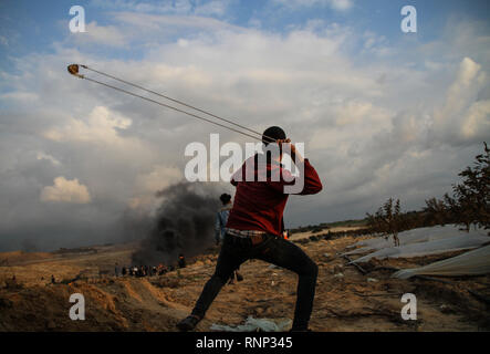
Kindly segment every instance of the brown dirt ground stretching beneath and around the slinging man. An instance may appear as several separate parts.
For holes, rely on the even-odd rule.
[[[392,279],[392,268],[411,268],[452,254],[373,260],[362,274],[337,256],[362,238],[298,243],[319,264],[313,331],[489,331],[490,275]],[[114,263],[128,264],[131,247],[100,248],[91,254],[15,254],[0,267],[0,331],[176,331],[213,272],[218,249],[185,269],[147,278],[114,277]],[[327,253],[327,254],[325,254]],[[3,259],[6,254],[2,256]],[[12,258],[12,257],[11,257]],[[100,274],[100,270],[108,274]],[[198,331],[211,324],[238,325],[248,316],[292,319],[296,275],[259,260],[246,262],[244,280],[227,284]],[[15,275],[13,282],[11,278]],[[56,279],[51,284],[51,274]],[[77,274],[82,279],[71,281]],[[477,299],[472,290],[484,299]],[[70,295],[85,296],[85,321],[72,321]],[[417,320],[404,321],[404,293],[417,296]]]

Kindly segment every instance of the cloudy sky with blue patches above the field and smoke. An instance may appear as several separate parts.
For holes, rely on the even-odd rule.
[[[74,4],[85,33],[70,31]],[[417,33],[400,30],[406,4]],[[112,240],[125,211],[184,177],[187,144],[247,142],[70,63],[304,142],[325,188],[290,198],[289,227],[362,218],[389,197],[418,209],[489,140],[488,17],[486,0],[2,1],[0,250]]]

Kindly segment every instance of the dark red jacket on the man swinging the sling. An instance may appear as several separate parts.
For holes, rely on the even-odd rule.
[[[256,164],[248,164],[251,158],[256,158]],[[253,165],[254,170],[252,171],[250,166]],[[256,181],[246,181],[247,168],[249,174],[254,176]],[[240,180],[238,178],[240,174],[242,181],[237,181],[237,179]],[[280,178],[272,178],[273,176],[278,177],[278,174],[280,174]],[[269,178],[267,181],[259,181],[259,176],[269,176]],[[231,177],[231,184],[237,187],[237,192],[227,228],[281,235],[283,229],[282,214],[289,197],[289,194],[284,194],[284,186],[294,185],[295,183],[296,180],[293,179],[291,173],[283,169],[279,163],[273,162],[272,164],[258,166],[257,155],[250,157]],[[304,187],[298,194],[314,195],[321,190],[322,183],[319,175],[305,158]]]

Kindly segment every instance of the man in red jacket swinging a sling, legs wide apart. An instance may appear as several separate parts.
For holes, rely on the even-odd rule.
[[[291,331],[307,331],[319,267],[301,248],[281,237],[282,216],[288,192],[294,189],[290,189],[290,186],[302,186],[295,194],[314,195],[322,190],[322,183],[313,166],[303,159],[283,129],[278,126],[265,129],[262,142],[265,147],[278,144],[271,145],[278,154],[260,156],[267,158],[261,158],[260,164],[259,154],[256,154],[231,178],[237,192],[216,270],[202,289],[191,314],[178,323],[180,331],[196,327],[233,271],[249,259],[260,259],[299,275]],[[292,162],[300,167],[300,177],[292,176],[281,164],[284,146],[289,148]],[[270,147],[267,150],[271,152]],[[253,180],[247,180],[250,175],[254,176]],[[264,181],[261,181],[262,177],[265,177]]]

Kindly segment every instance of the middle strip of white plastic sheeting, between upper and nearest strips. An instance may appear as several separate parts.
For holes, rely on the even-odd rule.
[[[481,244],[489,241],[490,238],[488,236],[460,235],[457,237],[451,237],[441,240],[383,248],[373,253],[353,260],[352,263],[367,262],[372,258],[377,258],[377,259],[409,258],[409,257],[420,257],[427,254],[438,254],[450,251],[467,250],[480,247]]]

